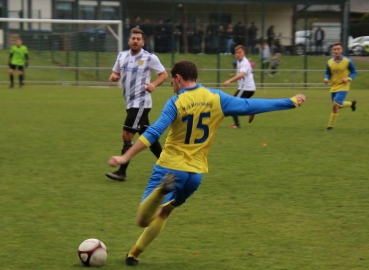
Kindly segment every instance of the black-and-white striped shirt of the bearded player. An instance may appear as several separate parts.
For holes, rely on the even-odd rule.
[[[127,109],[152,107],[151,95],[145,91],[145,82],[150,83],[151,71],[156,74],[165,71],[155,54],[143,49],[136,55],[131,55],[130,50],[122,51],[117,57],[113,71],[120,73]]]

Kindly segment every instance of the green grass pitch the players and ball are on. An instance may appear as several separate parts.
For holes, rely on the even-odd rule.
[[[333,132],[325,131],[329,92],[304,93],[302,108],[257,115],[250,125],[242,117],[239,130],[223,121],[210,173],[138,269],[368,269],[369,93],[349,93],[358,109],[343,110]],[[169,88],[153,94],[152,121],[171,95]],[[155,158],[140,153],[124,183],[104,176],[121,148],[121,90],[0,88],[0,113],[1,268],[84,269],[77,247],[91,237],[108,247],[103,269],[128,268]]]

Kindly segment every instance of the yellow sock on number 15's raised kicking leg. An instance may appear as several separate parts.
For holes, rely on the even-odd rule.
[[[161,193],[161,186],[159,186],[140,204],[138,215],[144,222],[150,222],[154,219],[156,211],[161,205],[164,196],[165,195]]]

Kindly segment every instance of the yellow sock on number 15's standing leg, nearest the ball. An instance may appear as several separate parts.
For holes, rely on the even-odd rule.
[[[136,260],[142,252],[144,252],[152,241],[163,230],[167,219],[157,216],[138,238],[136,245],[130,250],[128,257],[134,257]]]

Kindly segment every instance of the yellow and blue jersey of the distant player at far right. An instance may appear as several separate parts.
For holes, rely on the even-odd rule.
[[[354,62],[346,56],[342,56],[339,61],[331,58],[327,62],[325,78],[331,80],[331,92],[350,90],[350,81],[342,82],[342,79],[353,80],[357,75]]]

